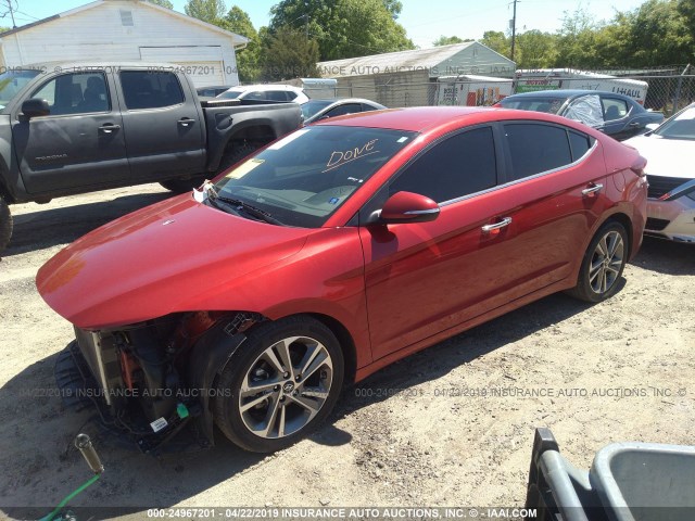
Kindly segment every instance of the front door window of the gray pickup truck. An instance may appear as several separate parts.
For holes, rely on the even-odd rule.
[[[63,74],[35,90],[31,98],[48,101],[52,116],[111,110],[102,73]]]

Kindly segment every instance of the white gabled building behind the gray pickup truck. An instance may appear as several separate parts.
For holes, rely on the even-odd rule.
[[[168,62],[197,87],[237,85],[248,38],[143,0],[97,0],[0,34],[0,67],[47,62]]]

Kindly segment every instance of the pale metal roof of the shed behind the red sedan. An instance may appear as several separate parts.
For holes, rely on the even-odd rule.
[[[369,56],[318,62],[317,66],[321,75],[331,77],[426,71],[446,62],[450,58],[471,46],[485,47],[477,41],[466,41],[464,43],[439,46],[431,49],[387,52]],[[490,50],[492,51],[492,49]],[[505,62],[510,62],[510,60],[502,55],[501,58]]]

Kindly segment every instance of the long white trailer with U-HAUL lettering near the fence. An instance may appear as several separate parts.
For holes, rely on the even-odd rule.
[[[515,93],[555,89],[603,90],[629,96],[641,105],[644,105],[648,86],[646,81],[637,79],[619,78],[609,74],[589,73],[576,68],[519,69],[514,75]]]

